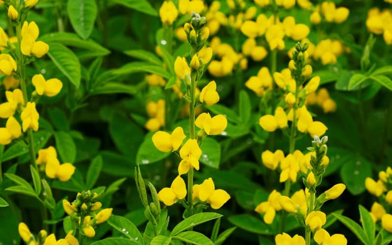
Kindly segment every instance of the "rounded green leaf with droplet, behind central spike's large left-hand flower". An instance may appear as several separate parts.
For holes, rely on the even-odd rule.
[[[152,143],[152,135],[154,133],[147,133],[143,143],[140,145],[136,155],[136,164],[149,164],[162,160],[170,155],[170,152],[162,152],[158,150],[154,143]]]

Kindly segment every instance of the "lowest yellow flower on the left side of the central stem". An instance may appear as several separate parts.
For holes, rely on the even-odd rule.
[[[158,193],[159,200],[165,203],[166,206],[173,205],[174,202],[184,199],[185,196],[187,196],[187,188],[185,181],[180,176],[173,180],[170,188],[163,188]]]

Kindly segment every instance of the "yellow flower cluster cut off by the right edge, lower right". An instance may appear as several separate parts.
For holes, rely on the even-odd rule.
[[[378,198],[370,209],[370,215],[373,221],[381,221],[385,230],[392,233],[392,214],[388,214],[392,205],[392,169],[388,167],[386,171],[378,173],[377,182],[368,177],[365,180],[365,186],[368,192]]]

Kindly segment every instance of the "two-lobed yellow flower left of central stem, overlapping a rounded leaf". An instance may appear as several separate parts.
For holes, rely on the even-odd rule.
[[[152,142],[158,150],[169,152],[171,150],[177,150],[185,138],[186,136],[182,127],[176,127],[172,134],[164,131],[156,132],[152,136]]]

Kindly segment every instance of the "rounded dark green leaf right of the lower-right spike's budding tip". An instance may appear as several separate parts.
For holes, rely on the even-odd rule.
[[[352,195],[365,191],[365,179],[371,176],[371,164],[365,158],[351,158],[341,168],[340,175]]]

